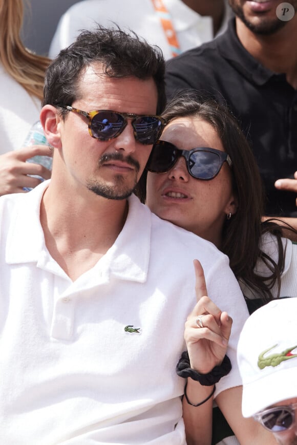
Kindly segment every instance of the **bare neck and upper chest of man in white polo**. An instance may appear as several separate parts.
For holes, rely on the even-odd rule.
[[[46,246],[60,267],[75,281],[91,269],[114,244],[128,215],[127,200],[57,194],[51,184],[40,206]],[[57,199],[58,197],[58,199]]]

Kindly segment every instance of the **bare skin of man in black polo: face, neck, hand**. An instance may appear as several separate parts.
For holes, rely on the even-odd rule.
[[[297,0],[289,2],[295,9],[295,15],[288,22],[283,22],[275,14],[280,3],[280,0],[265,3],[262,0],[229,0],[236,15],[236,31],[243,47],[266,68],[275,73],[285,73],[288,83],[297,89],[297,52],[292,51],[292,41],[297,40]],[[259,10],[262,9],[261,4],[264,7],[262,11]],[[296,173],[294,177],[278,180],[275,187],[296,193]],[[297,229],[296,218],[282,220]]]

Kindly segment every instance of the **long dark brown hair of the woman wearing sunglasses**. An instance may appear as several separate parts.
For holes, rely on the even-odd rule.
[[[198,116],[208,122],[219,135],[225,152],[232,160],[232,188],[238,199],[236,214],[225,220],[222,229],[221,250],[229,257],[230,267],[237,280],[268,302],[273,298],[271,289],[277,284],[278,295],[284,268],[284,248],[277,220],[262,223],[264,192],[259,169],[239,123],[226,107],[213,99],[203,98],[195,90],[175,95],[166,105],[162,116],[167,123],[178,117]],[[145,202],[146,172],[141,177],[136,194]],[[261,236],[270,232],[277,237],[279,256],[276,263],[261,250]],[[254,268],[262,260],[271,271],[260,276]]]

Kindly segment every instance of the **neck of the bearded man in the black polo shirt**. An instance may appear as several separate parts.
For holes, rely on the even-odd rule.
[[[297,15],[272,35],[259,35],[250,31],[236,17],[236,32],[243,47],[264,67],[274,73],[285,73],[288,83],[297,89]]]

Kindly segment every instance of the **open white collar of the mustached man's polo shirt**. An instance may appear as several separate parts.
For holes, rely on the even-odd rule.
[[[43,265],[49,264],[44,260],[45,255],[49,256],[49,253],[39,217],[41,198],[48,184],[49,181],[41,183],[22,196],[23,199],[18,200],[14,206],[6,246],[8,264],[36,262],[38,267],[42,268]],[[143,283],[146,281],[150,261],[152,214],[135,195],[132,195],[128,202],[129,211],[123,229],[115,243],[91,270],[98,270],[101,275],[103,272],[107,280],[109,275],[113,274],[118,279]],[[50,263],[53,262],[50,257]],[[57,273],[59,267],[50,269]],[[62,269],[60,272],[59,275],[65,276]],[[78,280],[80,278],[82,276]]]

